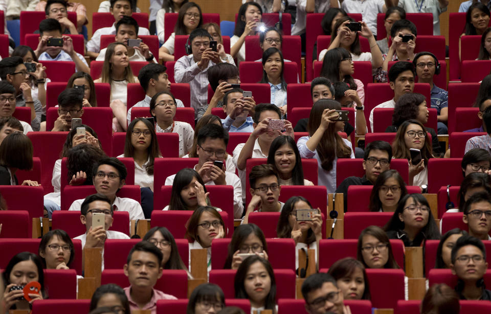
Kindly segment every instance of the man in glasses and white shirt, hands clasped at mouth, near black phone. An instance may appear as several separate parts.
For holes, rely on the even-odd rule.
[[[240,179],[235,173],[226,171],[224,162],[228,142],[229,133],[221,126],[203,126],[196,138],[198,164],[194,166],[194,170],[201,176],[205,185],[231,185],[234,188],[234,218],[241,218],[243,204]],[[174,177],[175,174],[168,176],[165,185],[172,185]]]

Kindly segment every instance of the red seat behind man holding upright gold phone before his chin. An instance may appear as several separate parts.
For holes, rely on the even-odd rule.
[[[52,229],[61,229],[66,231],[71,238],[78,237],[86,232],[85,225],[80,220],[80,211],[58,210],[53,212]],[[108,230],[119,231],[130,235],[129,233],[129,213],[116,211],[113,214],[113,225]]]

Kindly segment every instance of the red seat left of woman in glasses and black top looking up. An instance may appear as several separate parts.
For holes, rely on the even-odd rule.
[[[358,239],[363,229],[368,226],[378,226],[383,228],[394,213],[344,213],[344,238]],[[338,226],[338,228],[340,228]]]

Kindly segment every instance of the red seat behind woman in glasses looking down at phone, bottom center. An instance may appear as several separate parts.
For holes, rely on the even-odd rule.
[[[261,213],[263,214],[263,213]],[[275,233],[276,234],[276,233]],[[276,238],[276,235],[274,236]],[[224,269],[227,260],[230,238],[214,239],[211,243],[212,270]],[[273,239],[266,236],[267,256],[275,270],[295,270],[295,242],[293,239]],[[235,252],[233,252],[235,253]]]

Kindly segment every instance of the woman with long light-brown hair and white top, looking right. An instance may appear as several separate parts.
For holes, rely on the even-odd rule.
[[[128,59],[128,49],[121,42],[107,46],[101,77],[94,82],[111,85],[111,103],[113,109],[113,130],[126,131],[126,93],[128,83],[138,83],[133,76]]]

